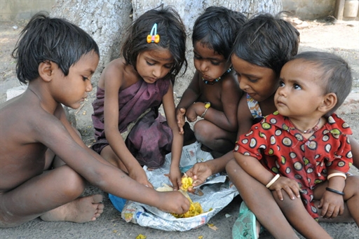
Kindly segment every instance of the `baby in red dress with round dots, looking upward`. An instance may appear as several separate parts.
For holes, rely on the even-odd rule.
[[[348,210],[359,225],[359,177],[346,177],[353,162],[351,130],[334,114],[351,85],[351,70],[341,57],[321,52],[293,57],[280,72],[278,111],[241,135],[234,149],[241,168],[271,191],[262,202],[277,203],[305,238],[330,238],[313,220],[319,216],[333,219]],[[242,235],[252,231],[242,229]]]

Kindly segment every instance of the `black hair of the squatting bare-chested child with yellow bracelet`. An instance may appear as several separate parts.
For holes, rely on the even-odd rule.
[[[192,43],[200,41],[227,60],[236,35],[247,20],[242,13],[221,6],[210,6],[194,22]]]

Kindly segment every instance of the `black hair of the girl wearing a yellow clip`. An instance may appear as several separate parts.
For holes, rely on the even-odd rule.
[[[152,27],[157,23],[157,34],[160,36],[158,43],[147,43],[147,35],[150,34]],[[186,50],[186,32],[184,25],[177,11],[171,7],[151,9],[140,15],[128,28],[128,37],[122,46],[122,55],[126,64],[132,65],[136,69],[138,54],[153,50],[158,47],[168,49],[175,63],[164,78],[171,78],[179,74],[184,64],[187,69]]]

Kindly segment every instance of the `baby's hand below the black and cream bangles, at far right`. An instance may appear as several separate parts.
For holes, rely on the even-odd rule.
[[[325,191],[318,207],[322,209],[320,216],[325,218],[337,217],[338,214],[341,215],[344,212],[343,196]]]

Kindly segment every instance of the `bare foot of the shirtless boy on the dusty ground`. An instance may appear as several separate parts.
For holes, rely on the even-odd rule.
[[[96,194],[77,198],[70,203],[57,207],[41,215],[43,221],[95,221],[104,210],[102,195]]]

